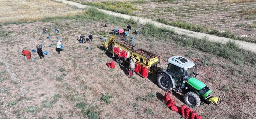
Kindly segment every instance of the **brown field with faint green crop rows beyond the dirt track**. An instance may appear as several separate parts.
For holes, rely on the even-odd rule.
[[[138,15],[147,18],[182,20],[219,30],[230,30],[238,35],[256,38],[256,2],[230,3],[228,0],[179,0],[139,4]],[[249,11],[254,11],[250,13]],[[254,27],[251,26],[254,24]]]

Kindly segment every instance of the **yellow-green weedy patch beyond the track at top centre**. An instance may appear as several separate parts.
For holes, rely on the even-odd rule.
[[[127,1],[82,2],[81,4],[132,16],[136,16],[133,11],[139,10]]]

